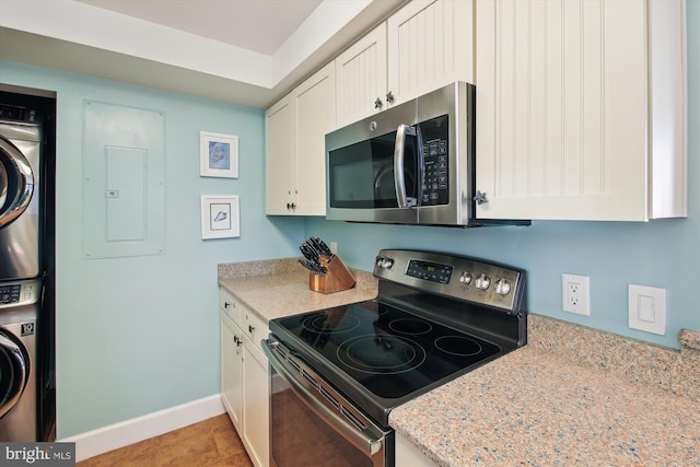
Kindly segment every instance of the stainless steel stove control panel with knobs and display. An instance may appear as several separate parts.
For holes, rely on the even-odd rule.
[[[482,259],[443,253],[382,249],[374,276],[428,292],[517,313],[525,272]]]

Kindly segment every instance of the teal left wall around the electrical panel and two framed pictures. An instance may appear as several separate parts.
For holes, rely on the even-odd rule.
[[[8,61],[0,82],[58,94],[58,437],[220,393],[217,265],[303,241],[301,219],[265,215],[264,112]],[[165,113],[164,255],[83,259],[84,98]],[[199,176],[201,130],[238,136],[238,179]],[[202,241],[200,195],[226,194],[241,197],[241,237]]]

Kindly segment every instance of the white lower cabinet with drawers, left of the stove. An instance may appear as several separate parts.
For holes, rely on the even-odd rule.
[[[269,373],[260,348],[267,325],[235,295],[220,290],[221,398],[256,467],[269,460]]]

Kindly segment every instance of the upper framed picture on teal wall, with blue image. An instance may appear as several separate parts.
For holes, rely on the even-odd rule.
[[[238,178],[238,137],[200,131],[199,175]]]

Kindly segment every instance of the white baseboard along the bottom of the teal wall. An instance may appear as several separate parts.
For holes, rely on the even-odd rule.
[[[214,394],[57,441],[75,443],[75,460],[81,462],[224,412],[221,395]]]

